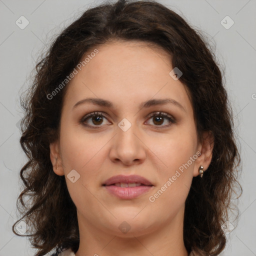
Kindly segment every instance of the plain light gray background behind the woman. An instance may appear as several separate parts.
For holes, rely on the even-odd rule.
[[[19,170],[26,158],[19,146],[18,123],[22,117],[19,94],[29,83],[30,71],[50,38],[85,9],[102,1],[0,0],[0,256],[33,255],[25,237],[12,233]],[[255,0],[159,0],[204,31],[216,45],[215,54],[225,68],[226,87],[235,117],[235,135],[241,150],[243,171],[239,181],[237,227],[227,234],[221,255],[256,255],[256,1]],[[29,24],[20,29],[16,20]],[[228,15],[234,24],[220,21]],[[19,21],[20,22],[20,21]],[[230,20],[224,21],[230,24]],[[24,22],[22,22],[24,24]]]

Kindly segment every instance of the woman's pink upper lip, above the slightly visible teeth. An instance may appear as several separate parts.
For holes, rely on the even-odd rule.
[[[139,175],[116,175],[108,178],[103,182],[104,186],[115,185],[120,187],[134,187],[134,186],[152,186],[152,183],[146,178]]]

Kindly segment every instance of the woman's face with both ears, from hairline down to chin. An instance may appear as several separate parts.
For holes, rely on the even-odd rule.
[[[68,84],[60,137],[50,144],[78,223],[126,237],[182,223],[191,180],[211,159],[185,86],[169,75],[170,56],[161,49],[135,41],[97,49]],[[106,185],[116,175],[124,177]],[[130,183],[136,187],[122,187]]]

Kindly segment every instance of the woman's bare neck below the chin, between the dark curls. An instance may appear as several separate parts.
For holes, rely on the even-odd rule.
[[[77,211],[80,243],[75,256],[119,256],[120,252],[122,256],[188,256],[183,241],[183,213],[184,208],[155,230],[118,236],[92,226]]]

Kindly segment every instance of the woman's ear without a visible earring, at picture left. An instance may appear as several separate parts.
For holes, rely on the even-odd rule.
[[[53,171],[61,176],[64,175],[63,167],[62,167],[62,160],[59,153],[59,142],[56,140],[55,142],[50,143],[50,161],[52,164]]]

